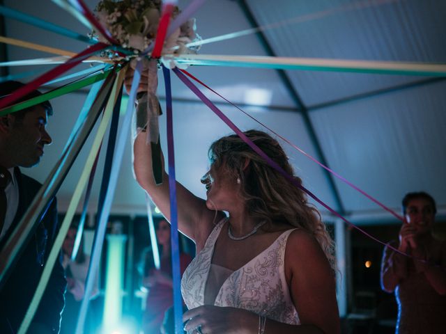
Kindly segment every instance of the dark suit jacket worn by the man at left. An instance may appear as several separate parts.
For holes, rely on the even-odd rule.
[[[15,168],[15,177],[19,186],[19,205],[13,224],[1,240],[0,249],[3,248],[3,244],[13,232],[13,227],[20,222],[20,218],[31,205],[34,196],[42,186],[31,177],[22,175],[19,168]],[[36,232],[30,237],[28,244],[15,262],[13,271],[1,289],[0,333],[16,333],[20,324],[22,324],[43,272],[42,262],[45,264],[58,231],[56,198],[53,198]],[[43,324],[51,328],[49,333],[59,333],[65,290],[64,270],[61,261],[56,261],[45,293],[33,318],[33,323]]]

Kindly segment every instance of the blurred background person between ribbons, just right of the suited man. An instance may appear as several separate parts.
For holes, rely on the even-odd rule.
[[[89,273],[90,257],[84,250],[84,238],[82,237],[77,251],[75,260],[71,260],[73,247],[75,246],[75,239],[77,234],[77,225],[71,225],[63,240],[63,268],[66,272],[67,292],[66,292],[66,306],[62,313],[61,334],[70,334],[75,331],[77,326],[77,318],[81,307],[82,299],[85,294],[86,277]],[[99,294],[98,276],[95,278],[95,285],[91,292],[90,299],[94,299]],[[91,328],[94,326],[93,308],[89,308],[89,313],[86,316],[84,333],[91,333]]]

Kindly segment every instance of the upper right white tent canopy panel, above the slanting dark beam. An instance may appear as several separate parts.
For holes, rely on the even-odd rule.
[[[264,33],[276,56],[446,62],[445,1],[249,0],[259,25],[295,21]],[[422,77],[288,71],[312,106],[406,84]]]

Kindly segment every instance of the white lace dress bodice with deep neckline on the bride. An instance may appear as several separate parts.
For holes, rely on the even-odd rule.
[[[215,241],[225,223],[226,218],[215,226],[204,248],[183,274],[181,292],[189,309],[204,305]],[[300,324],[284,269],[286,240],[291,232],[282,233],[266,250],[233,271],[220,288],[214,305],[242,308],[286,324]]]

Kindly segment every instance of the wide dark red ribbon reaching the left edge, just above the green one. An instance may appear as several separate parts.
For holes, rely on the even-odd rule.
[[[81,63],[84,59],[89,58],[89,56],[107,47],[109,47],[109,45],[105,43],[97,43],[95,45],[92,45],[91,47],[88,47],[84,51],[70,58],[68,61],[66,61],[66,63],[54,67],[52,70],[49,70],[48,72],[45,72],[44,74],[40,75],[40,77],[37,77],[33,81],[30,81],[29,84],[27,84],[26,86],[23,86],[15,90],[14,93],[1,99],[0,109],[5,108],[6,106],[10,106],[11,104],[19,100],[20,97],[24,97],[25,95],[31,93],[33,90],[36,90],[46,82],[56,77],[59,77],[59,75],[67,72],[72,67],[75,67],[77,64]]]

